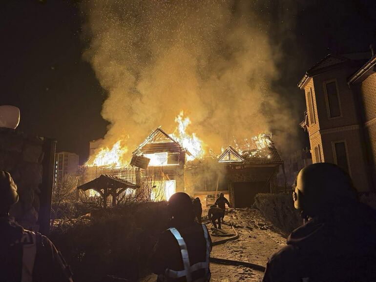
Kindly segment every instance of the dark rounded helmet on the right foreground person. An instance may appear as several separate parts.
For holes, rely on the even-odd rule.
[[[296,209],[314,216],[325,204],[356,201],[357,194],[347,172],[333,163],[320,162],[299,172],[292,198]]]

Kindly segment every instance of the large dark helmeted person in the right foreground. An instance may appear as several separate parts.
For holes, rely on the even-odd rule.
[[[267,264],[264,282],[376,281],[376,212],[330,163],[303,168],[293,192],[304,225]]]

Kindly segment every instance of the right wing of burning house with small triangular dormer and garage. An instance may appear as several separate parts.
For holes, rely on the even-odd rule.
[[[186,192],[195,197],[223,192],[234,207],[251,206],[257,193],[274,192],[283,162],[270,136],[259,135],[242,145],[236,142],[235,147],[228,146],[217,157],[188,163],[186,180],[191,183],[186,181]]]

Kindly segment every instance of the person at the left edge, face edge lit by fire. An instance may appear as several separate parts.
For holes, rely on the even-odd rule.
[[[0,282],[72,282],[54,244],[9,217],[10,207],[18,200],[12,177],[0,171]]]

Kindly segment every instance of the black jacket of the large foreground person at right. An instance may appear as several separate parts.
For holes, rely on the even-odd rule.
[[[376,281],[376,211],[361,203],[327,208],[292,232],[264,282]]]

